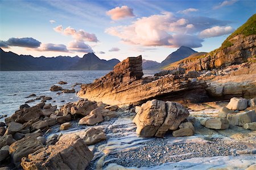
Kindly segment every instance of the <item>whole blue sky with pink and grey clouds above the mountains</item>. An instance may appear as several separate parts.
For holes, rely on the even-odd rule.
[[[210,52],[255,14],[251,0],[0,1],[6,52],[162,62],[180,46]]]

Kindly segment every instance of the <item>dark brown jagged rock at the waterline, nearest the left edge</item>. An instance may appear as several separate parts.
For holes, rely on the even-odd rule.
[[[38,119],[42,114],[41,109],[34,106],[15,111],[15,113],[10,118],[6,118],[5,121],[7,124],[9,124],[9,122],[18,122],[20,124],[24,124],[27,121]]]

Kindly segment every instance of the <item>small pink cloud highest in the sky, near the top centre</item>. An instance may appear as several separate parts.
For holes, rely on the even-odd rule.
[[[133,9],[128,6],[115,7],[112,10],[106,12],[107,15],[111,16],[112,20],[119,20],[124,18],[133,18]]]

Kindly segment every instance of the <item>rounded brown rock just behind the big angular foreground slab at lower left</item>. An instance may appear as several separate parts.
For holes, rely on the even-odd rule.
[[[85,132],[84,141],[86,145],[94,145],[104,140],[106,140],[106,134],[102,131],[102,128],[90,128]]]

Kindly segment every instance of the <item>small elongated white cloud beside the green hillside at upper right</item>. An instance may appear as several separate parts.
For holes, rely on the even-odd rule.
[[[209,37],[217,37],[217,36],[222,36],[226,35],[229,33],[232,33],[234,31],[234,28],[228,26],[228,27],[212,27],[205,29],[204,31],[201,31],[199,33],[199,36],[202,38],[209,38]]]

